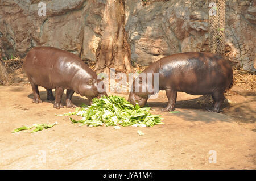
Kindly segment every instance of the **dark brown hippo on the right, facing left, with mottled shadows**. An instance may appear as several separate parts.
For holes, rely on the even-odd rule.
[[[214,100],[210,112],[220,112],[224,102],[224,91],[230,89],[233,83],[232,65],[221,56],[209,52],[187,52],[174,54],[154,62],[144,73],[159,73],[159,90],[166,90],[167,107],[162,111],[173,111],[177,92],[192,95],[211,94]],[[138,77],[139,78],[139,77]],[[154,82],[154,75],[152,81]],[[154,85],[151,86],[154,87]],[[133,82],[133,90],[135,81]],[[148,87],[148,83],[139,82],[139,89]],[[129,102],[143,107],[154,92],[134,92],[129,95]]]

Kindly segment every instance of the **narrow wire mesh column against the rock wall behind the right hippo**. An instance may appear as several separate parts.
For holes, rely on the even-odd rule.
[[[225,0],[209,0],[209,51],[225,54]]]

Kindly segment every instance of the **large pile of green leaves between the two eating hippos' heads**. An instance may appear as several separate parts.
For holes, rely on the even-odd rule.
[[[106,126],[141,126],[152,127],[156,124],[163,124],[160,115],[152,115],[150,107],[140,108],[137,104],[133,106],[125,98],[110,95],[109,97],[94,98],[91,106],[85,104],[76,108],[75,112],[69,112],[57,116],[82,116],[81,120],[70,118],[72,123],[96,127],[105,124]]]

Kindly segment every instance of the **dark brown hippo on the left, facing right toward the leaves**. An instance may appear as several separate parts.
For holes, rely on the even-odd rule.
[[[32,86],[34,103],[42,103],[38,86],[47,90],[47,99],[55,100],[54,108],[63,108],[61,97],[67,89],[66,107],[76,107],[71,98],[74,92],[86,96],[91,102],[95,97],[107,94],[98,92],[96,73],[73,53],[53,47],[36,47],[25,57],[23,69]],[[56,99],[52,94],[55,89]]]

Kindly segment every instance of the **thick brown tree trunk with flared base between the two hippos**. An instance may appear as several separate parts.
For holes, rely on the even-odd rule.
[[[104,32],[96,50],[96,73],[110,74],[110,68],[131,72],[131,49],[125,32],[125,1],[107,0]]]

